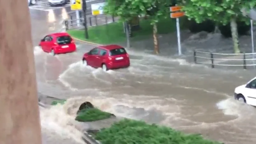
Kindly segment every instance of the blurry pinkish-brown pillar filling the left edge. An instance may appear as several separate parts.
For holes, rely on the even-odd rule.
[[[0,0],[0,144],[42,144],[27,0]]]

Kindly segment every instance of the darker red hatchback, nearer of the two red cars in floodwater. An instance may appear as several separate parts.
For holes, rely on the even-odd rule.
[[[98,46],[83,55],[83,64],[95,68],[102,67],[104,71],[130,66],[130,58],[122,46]]]

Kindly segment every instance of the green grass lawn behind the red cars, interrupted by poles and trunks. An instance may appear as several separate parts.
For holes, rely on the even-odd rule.
[[[181,28],[183,26],[182,20]],[[153,26],[149,20],[140,20],[141,30],[134,31],[132,40],[145,38],[143,36],[153,34]],[[158,22],[158,34],[168,34],[176,31],[176,20],[171,18],[161,19]],[[113,22],[102,26],[92,26],[88,28],[89,39],[85,38],[84,30],[67,30],[74,38],[94,42],[98,44],[114,44],[126,41],[122,22]]]

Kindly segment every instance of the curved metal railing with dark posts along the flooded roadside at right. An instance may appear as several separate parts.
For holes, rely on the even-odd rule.
[[[248,66],[256,66],[254,54],[256,53],[221,54],[194,50],[194,63],[210,65],[212,68],[215,66],[242,66],[247,69]],[[226,64],[226,62],[230,63]]]

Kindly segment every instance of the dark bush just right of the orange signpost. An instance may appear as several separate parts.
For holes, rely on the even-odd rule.
[[[195,20],[190,20],[189,21],[189,30],[191,33],[198,33],[201,31],[206,31],[206,32],[214,32],[215,30],[215,23],[211,20],[205,20],[201,23],[197,23]]]

